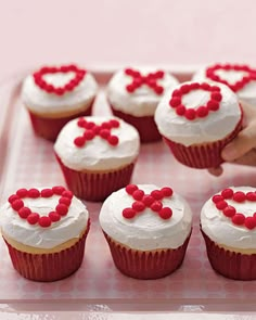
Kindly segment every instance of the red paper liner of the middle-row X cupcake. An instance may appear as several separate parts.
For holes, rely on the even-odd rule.
[[[55,154],[64,175],[66,185],[77,196],[87,201],[104,201],[131,180],[135,163],[110,172],[84,172],[66,167]]]

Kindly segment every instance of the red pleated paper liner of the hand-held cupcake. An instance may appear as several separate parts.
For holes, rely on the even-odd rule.
[[[235,129],[225,139],[204,144],[193,144],[190,146],[174,142],[166,137],[163,137],[163,139],[169,146],[176,159],[181,164],[199,169],[215,168],[223,163],[221,157],[222,149],[238,136],[241,129],[242,119],[236,125]]]

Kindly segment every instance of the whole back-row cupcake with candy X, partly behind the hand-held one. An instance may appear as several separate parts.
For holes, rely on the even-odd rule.
[[[112,77],[106,95],[115,116],[137,128],[141,142],[161,140],[155,108],[165,91],[178,84],[168,73],[153,68],[120,69]]]

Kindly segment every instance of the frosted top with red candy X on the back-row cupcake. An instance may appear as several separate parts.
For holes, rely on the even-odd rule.
[[[156,68],[125,68],[114,74],[106,94],[115,110],[136,117],[152,116],[165,91],[177,84],[174,76]]]

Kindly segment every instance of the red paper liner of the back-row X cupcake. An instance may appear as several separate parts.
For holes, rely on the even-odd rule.
[[[140,141],[142,143],[155,142],[162,139],[162,136],[156,127],[154,116],[136,117],[115,110],[113,106],[111,106],[111,110],[115,116],[121,118],[138,130],[140,135]]]

